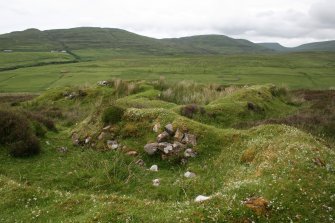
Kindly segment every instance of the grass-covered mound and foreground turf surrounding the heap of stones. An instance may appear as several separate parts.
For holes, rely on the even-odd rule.
[[[128,84],[134,83],[122,89]],[[200,88],[214,96],[181,102],[162,96],[174,86],[135,84],[136,91],[118,91],[115,84],[57,89],[24,104],[30,112],[52,107],[62,115],[54,118],[58,132],[46,133],[39,156],[22,160],[0,152],[3,222],[333,221],[331,144],[286,125],[233,128],[293,115],[308,103],[274,86],[188,83],[185,94]],[[69,97],[79,90],[85,94]],[[190,104],[192,116],[182,113]],[[187,145],[196,156],[187,162],[150,156],[143,148],[169,123],[196,137]],[[158,172],[148,170],[154,164]],[[186,178],[187,171],[195,177]],[[195,202],[198,195],[210,199]]]

